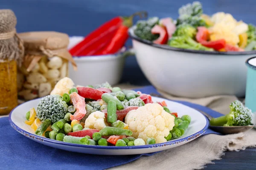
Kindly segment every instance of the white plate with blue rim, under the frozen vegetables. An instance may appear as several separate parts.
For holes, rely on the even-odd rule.
[[[159,97],[152,97],[154,102],[160,102],[165,100],[168,108],[172,112],[177,112],[178,116],[183,115],[191,116],[191,122],[189,127],[186,129],[183,136],[178,139],[170,140],[168,142],[159,143],[159,144],[149,144],[143,146],[126,146],[126,147],[117,147],[117,146],[92,146],[92,145],[83,145],[83,144],[73,144],[60,142],[52,139],[47,139],[44,136],[38,136],[34,133],[32,128],[29,125],[26,125],[24,122],[26,120],[26,112],[30,108],[37,108],[37,105],[40,99],[34,99],[29,102],[25,102],[12,110],[9,115],[9,122],[12,127],[17,130],[22,135],[26,136],[29,139],[32,139],[35,142],[47,145],[49,147],[54,147],[57,149],[78,152],[78,153],[89,153],[89,154],[98,154],[98,155],[134,155],[134,154],[143,154],[143,153],[152,153],[162,150],[171,149],[173,147],[178,147],[180,145],[191,142],[192,140],[198,138],[205,133],[209,126],[208,119],[199,111],[190,108],[186,105],[182,105],[177,102],[169,101]]]

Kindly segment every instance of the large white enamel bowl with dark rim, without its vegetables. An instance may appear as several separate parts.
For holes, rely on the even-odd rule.
[[[256,51],[195,51],[142,40],[129,29],[137,62],[156,88],[174,96],[213,95],[243,97],[247,68],[244,62]]]

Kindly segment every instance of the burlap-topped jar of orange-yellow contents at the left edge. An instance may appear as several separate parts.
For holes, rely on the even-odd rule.
[[[24,48],[12,10],[0,10],[0,23],[0,115],[4,115],[17,106],[17,64],[22,62]]]

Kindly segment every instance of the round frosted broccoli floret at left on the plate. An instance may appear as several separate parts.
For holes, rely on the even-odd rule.
[[[38,103],[37,116],[41,121],[50,119],[54,123],[64,118],[67,107],[60,95],[48,95]]]

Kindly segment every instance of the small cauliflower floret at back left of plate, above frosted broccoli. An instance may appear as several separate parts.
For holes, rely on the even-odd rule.
[[[55,85],[54,89],[51,92],[51,95],[58,94],[63,96],[64,93],[69,94],[69,90],[74,87],[74,82],[68,77],[60,79]]]

